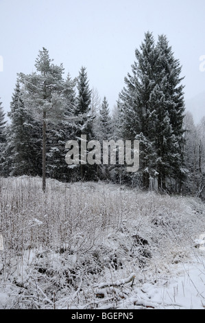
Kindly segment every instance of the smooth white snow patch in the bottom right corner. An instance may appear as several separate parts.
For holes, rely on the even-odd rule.
[[[198,261],[171,266],[169,274],[162,275],[158,282],[136,286],[130,309],[133,302],[139,308],[205,309],[204,256]]]

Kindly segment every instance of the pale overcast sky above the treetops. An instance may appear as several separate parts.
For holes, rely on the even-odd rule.
[[[134,50],[148,30],[166,34],[182,65],[185,98],[205,91],[204,0],[0,0],[0,98],[10,110],[16,74],[35,71],[39,49],[46,47],[65,77],[87,69],[90,87],[114,106]],[[205,64],[204,64],[205,66]],[[194,111],[205,114],[204,111]]]

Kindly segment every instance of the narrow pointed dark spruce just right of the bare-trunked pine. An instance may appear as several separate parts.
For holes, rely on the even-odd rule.
[[[73,138],[79,142],[80,156],[84,155],[84,160],[80,160],[80,165],[73,169],[76,179],[91,180],[96,177],[96,165],[88,165],[86,163],[86,156],[88,150],[81,151],[80,138],[81,135],[86,135],[86,141],[89,142],[94,139],[93,133],[93,119],[91,111],[91,93],[89,88],[89,81],[86,72],[86,67],[81,67],[79,76],[77,77],[77,101],[75,105],[74,115],[84,115],[83,118],[75,122],[75,129],[73,131]]]

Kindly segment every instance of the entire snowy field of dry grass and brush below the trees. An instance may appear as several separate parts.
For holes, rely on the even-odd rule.
[[[204,309],[205,205],[0,179],[0,309]]]

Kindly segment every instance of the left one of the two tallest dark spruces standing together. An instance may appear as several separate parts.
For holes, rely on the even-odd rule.
[[[153,169],[154,144],[153,131],[156,115],[150,95],[156,86],[156,62],[158,54],[154,37],[150,32],[145,34],[141,50],[136,49],[136,61],[132,65],[132,75],[125,78],[125,87],[119,94],[119,118],[121,120],[121,137],[123,140],[139,140],[141,186],[149,188],[149,177]],[[152,133],[152,135],[151,135]],[[133,181],[135,174],[130,174]]]

